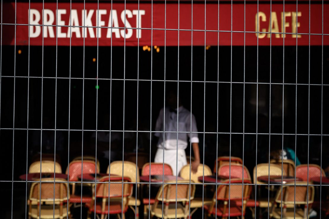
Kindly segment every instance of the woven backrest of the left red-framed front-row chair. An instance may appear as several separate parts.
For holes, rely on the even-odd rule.
[[[129,184],[129,178],[125,177],[123,181],[109,179],[108,176],[105,176],[99,180],[100,183],[96,183],[96,198],[121,198],[131,195],[133,184]]]

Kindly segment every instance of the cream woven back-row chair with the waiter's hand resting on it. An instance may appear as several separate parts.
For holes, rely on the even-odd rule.
[[[202,182],[200,182],[198,180],[198,178],[200,176],[203,176],[203,174],[205,176],[212,175],[212,172],[211,172],[211,169],[209,168],[209,166],[204,165],[204,168],[203,168],[203,164],[199,164],[196,173],[193,173],[191,171],[191,175],[190,175],[190,164],[187,164],[187,165],[183,166],[183,168],[181,169],[181,172],[180,172],[180,176],[184,180],[190,180],[190,178],[191,178],[191,182],[193,181],[195,183],[201,183],[201,184],[202,184]],[[194,198],[193,200],[191,200],[190,208],[194,208],[194,209],[191,211],[190,217],[198,208],[202,208],[203,205],[209,205],[211,202],[212,202],[211,198],[203,198],[203,202],[202,202],[202,197],[200,197],[200,198],[197,197],[197,198]]]

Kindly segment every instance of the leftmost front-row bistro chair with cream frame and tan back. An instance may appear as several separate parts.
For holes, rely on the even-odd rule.
[[[32,183],[29,196],[29,218],[62,219],[67,217],[67,212],[70,217],[70,210],[67,211],[70,194],[67,193],[68,188],[65,182],[67,181],[63,179],[55,179],[54,183],[54,178],[43,178],[41,186],[40,182]]]

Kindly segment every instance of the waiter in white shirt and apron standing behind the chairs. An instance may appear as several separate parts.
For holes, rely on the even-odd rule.
[[[179,174],[182,167],[187,164],[185,149],[190,141],[194,152],[194,161],[191,162],[191,170],[195,173],[200,164],[200,153],[199,138],[198,134],[195,133],[198,130],[196,128],[194,115],[182,106],[181,100],[174,91],[168,93],[166,100],[168,107],[160,110],[155,125],[155,136],[158,137],[159,140],[154,162],[169,164],[174,175]],[[177,134],[177,117],[178,132],[183,133]]]

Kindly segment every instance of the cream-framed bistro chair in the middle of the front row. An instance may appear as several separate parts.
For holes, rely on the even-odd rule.
[[[194,198],[195,185],[190,185],[190,180],[178,180],[176,190],[175,180],[166,183],[168,184],[159,188],[155,202],[150,209],[151,215],[164,219],[188,218],[189,202]],[[163,202],[164,205],[160,202]]]

